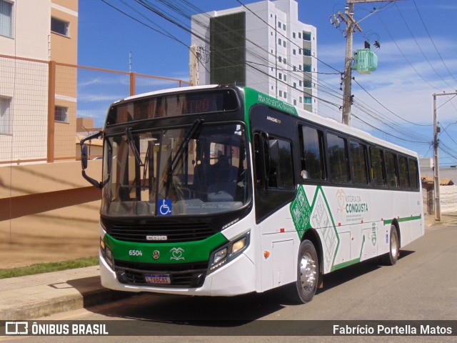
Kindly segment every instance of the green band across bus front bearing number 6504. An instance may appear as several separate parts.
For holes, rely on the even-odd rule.
[[[114,258],[122,261],[157,264],[186,264],[209,261],[211,252],[229,241],[223,234],[218,232],[207,239],[196,242],[124,242],[114,239],[109,234],[105,235],[104,242],[113,252]]]

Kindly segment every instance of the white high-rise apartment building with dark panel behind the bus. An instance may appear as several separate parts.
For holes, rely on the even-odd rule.
[[[296,0],[196,14],[192,33],[198,84],[249,86],[317,113],[316,27],[298,21]]]

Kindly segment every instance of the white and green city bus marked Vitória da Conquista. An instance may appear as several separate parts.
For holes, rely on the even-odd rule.
[[[101,182],[84,141],[102,136]],[[233,296],[283,287],[424,234],[415,152],[238,86],[130,96],[81,141],[102,189],[104,287]]]

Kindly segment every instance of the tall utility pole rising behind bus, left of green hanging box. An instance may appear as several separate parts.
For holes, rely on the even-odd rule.
[[[348,6],[344,11],[344,14],[338,11],[338,16],[346,23],[346,58],[344,61],[344,76],[343,76],[343,124],[349,125],[351,123],[351,103],[352,103],[352,94],[351,94],[351,80],[352,80],[352,61],[353,61],[353,51],[352,51],[352,41],[353,41],[353,32],[362,31],[361,27],[358,25],[358,22],[362,21],[365,18],[359,20],[358,22],[353,19],[354,14],[354,4],[365,4],[368,2],[391,2],[398,0],[347,0]],[[374,12],[373,12],[374,13]],[[333,22],[332,22],[333,24]]]

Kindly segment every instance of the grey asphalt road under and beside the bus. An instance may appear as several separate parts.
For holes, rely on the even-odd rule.
[[[189,330],[191,337],[96,337],[96,342],[296,342],[311,337],[209,337],[229,329],[237,334],[253,325],[258,334],[301,320],[457,320],[457,227],[428,227],[426,235],[401,249],[393,267],[363,262],[324,276],[308,304],[290,304],[275,289],[239,297],[174,297],[144,294],[101,307],[56,314],[54,320],[127,319],[122,325],[155,325],[169,335]],[[226,322],[226,321],[246,322]],[[268,324],[263,323],[263,321]],[[171,324],[179,321],[179,325]],[[196,322],[195,322],[196,321]],[[287,322],[282,322],[287,321]],[[297,322],[290,322],[297,321]],[[257,325],[256,324],[259,324]],[[266,325],[266,326],[265,326]],[[61,342],[64,337],[23,337],[21,342]],[[54,340],[55,339],[55,340]],[[67,337],[89,342],[92,337]],[[312,337],[314,342],[455,342],[456,337]]]

